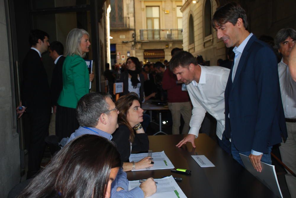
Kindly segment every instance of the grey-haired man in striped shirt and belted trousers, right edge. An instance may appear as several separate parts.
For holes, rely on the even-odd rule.
[[[281,159],[294,173],[296,172],[296,82],[293,81],[288,68],[289,55],[296,42],[296,31],[292,28],[279,30],[275,37],[274,48],[281,54],[278,63],[279,84],[283,102],[287,140],[279,147]],[[288,172],[288,171],[287,171]],[[288,172],[285,175],[291,197],[296,197],[296,178]]]

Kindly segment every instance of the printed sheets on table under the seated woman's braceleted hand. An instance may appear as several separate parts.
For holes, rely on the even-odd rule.
[[[131,154],[129,157],[129,161],[138,162],[144,157],[147,157],[147,153]],[[175,168],[175,166],[172,164],[169,158],[165,155],[164,151],[152,153],[152,158],[153,158],[154,164],[153,166],[150,167],[150,169],[142,168],[142,169],[132,170],[132,171],[147,171],[147,170]]]

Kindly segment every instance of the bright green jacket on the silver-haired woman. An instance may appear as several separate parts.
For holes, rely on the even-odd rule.
[[[63,89],[57,103],[76,108],[78,100],[89,93],[89,71],[78,55],[67,56],[63,64]]]

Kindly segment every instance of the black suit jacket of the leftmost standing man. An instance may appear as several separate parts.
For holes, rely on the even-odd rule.
[[[28,113],[50,113],[51,98],[47,74],[42,60],[30,49],[22,64],[23,81],[21,88],[22,105]]]

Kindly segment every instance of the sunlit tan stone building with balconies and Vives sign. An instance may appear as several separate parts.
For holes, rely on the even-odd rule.
[[[114,23],[118,14],[112,18],[112,7],[113,12],[120,11],[119,2],[123,2],[121,25]],[[126,62],[129,56],[144,62],[170,60],[173,48],[183,48],[181,0],[113,0],[110,4],[111,63]]]

